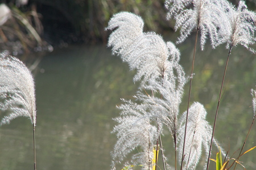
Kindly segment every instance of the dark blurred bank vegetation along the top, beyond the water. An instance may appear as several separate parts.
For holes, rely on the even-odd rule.
[[[256,9],[255,0],[246,3]],[[11,12],[0,12],[0,50],[11,55],[52,51],[56,45],[106,43],[109,32],[104,28],[119,11],[141,15],[145,31],[164,34],[174,31],[175,24],[166,21],[164,0],[2,0],[3,4]],[[7,22],[1,24],[3,16]]]

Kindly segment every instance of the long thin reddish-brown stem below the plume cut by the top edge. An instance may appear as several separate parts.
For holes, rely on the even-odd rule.
[[[197,28],[197,30],[196,30],[196,42],[195,42],[195,47],[194,47],[193,61],[192,61],[192,68],[191,68],[191,75],[190,75],[189,92],[188,92],[188,109],[187,109],[187,116],[186,116],[186,123],[185,123],[184,142],[183,142],[183,150],[182,150],[180,170],[182,170],[182,168],[183,168],[185,140],[186,140],[187,123],[188,123],[188,110],[189,110],[189,102],[190,102],[190,96],[191,96],[192,76],[193,76],[194,64],[195,64],[196,44],[197,44],[198,32],[199,32],[199,28]]]

